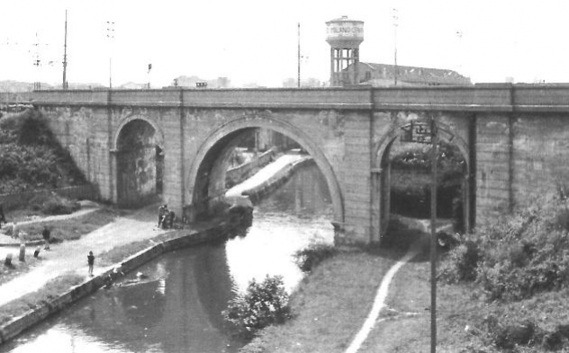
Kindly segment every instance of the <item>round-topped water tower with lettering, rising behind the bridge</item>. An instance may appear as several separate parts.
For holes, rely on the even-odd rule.
[[[359,84],[359,45],[364,41],[364,22],[348,16],[326,22],[330,44],[330,86]]]

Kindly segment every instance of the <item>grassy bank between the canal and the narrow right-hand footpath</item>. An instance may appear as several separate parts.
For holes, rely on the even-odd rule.
[[[291,296],[294,318],[266,328],[246,347],[259,352],[343,352],[371,310],[384,274],[417,240],[398,230],[382,249],[344,249],[324,260]]]

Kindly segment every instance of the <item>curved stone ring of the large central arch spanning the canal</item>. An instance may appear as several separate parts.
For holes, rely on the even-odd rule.
[[[199,187],[198,181],[200,179],[200,173],[204,172],[202,170],[204,162],[209,159],[208,157],[211,157],[210,154],[215,154],[213,155],[213,158],[217,158],[218,154],[223,153],[223,147],[229,143],[228,141],[234,140],[235,136],[239,134],[239,131],[243,131],[248,128],[266,128],[280,133],[285,137],[292,138],[312,156],[314,162],[318,165],[324,175],[324,179],[328,185],[328,190],[330,191],[330,198],[334,209],[334,224],[335,226],[342,225],[344,223],[344,203],[341,190],[339,188],[339,182],[330,162],[322,153],[321,148],[312,142],[312,139],[300,128],[296,128],[294,125],[281,119],[267,117],[266,115],[232,119],[223,124],[220,128],[217,128],[205,139],[205,142],[200,146],[193,163],[190,165],[189,172],[187,173],[188,177],[186,179],[187,184],[185,188],[185,190],[187,190],[187,199],[191,200],[192,204],[198,204],[203,201],[200,199],[200,192],[199,190],[196,190],[196,186]],[[210,165],[210,169],[211,168],[212,166]],[[210,171],[208,170],[206,172]]]

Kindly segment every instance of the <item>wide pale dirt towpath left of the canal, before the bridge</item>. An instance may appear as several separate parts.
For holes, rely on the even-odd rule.
[[[51,278],[69,270],[87,276],[89,251],[95,254],[95,275],[104,272],[108,268],[97,266],[99,253],[166,232],[156,228],[155,214],[155,207],[146,207],[131,215],[117,217],[113,223],[83,235],[77,241],[53,244],[50,251],[41,252],[41,265],[0,286],[0,305],[40,289]]]

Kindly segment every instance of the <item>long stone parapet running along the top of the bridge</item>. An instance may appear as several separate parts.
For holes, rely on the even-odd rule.
[[[353,87],[308,89],[162,89],[35,91],[20,94],[36,105],[130,105],[148,107],[569,111],[569,84],[475,84],[469,86]],[[18,100],[3,93],[5,101]]]

